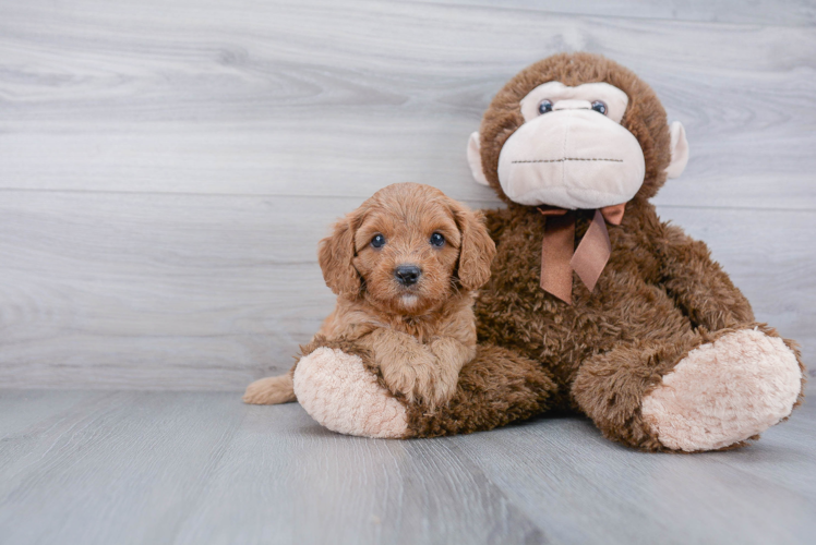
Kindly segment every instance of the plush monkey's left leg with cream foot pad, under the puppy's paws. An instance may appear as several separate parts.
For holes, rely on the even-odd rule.
[[[348,435],[433,437],[491,429],[544,412],[555,384],[541,365],[496,347],[479,347],[444,407],[406,403],[385,387],[372,359],[351,342],[304,347],[295,392],[320,424]]]

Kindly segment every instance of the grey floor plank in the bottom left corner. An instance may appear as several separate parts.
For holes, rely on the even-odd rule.
[[[0,541],[168,543],[243,419],[236,403],[95,392],[4,437]]]

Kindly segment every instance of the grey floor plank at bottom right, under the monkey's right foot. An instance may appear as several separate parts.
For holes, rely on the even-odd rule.
[[[813,414],[800,419],[807,434]],[[814,535],[812,480],[782,475],[816,463],[807,447],[791,446],[793,429],[699,456],[633,452],[577,419],[497,432],[464,437],[463,452],[555,543],[808,543]]]

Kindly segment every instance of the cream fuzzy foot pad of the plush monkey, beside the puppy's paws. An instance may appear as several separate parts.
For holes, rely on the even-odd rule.
[[[333,432],[400,438],[408,429],[405,407],[359,356],[338,349],[322,347],[300,359],[295,395],[310,416]]]

